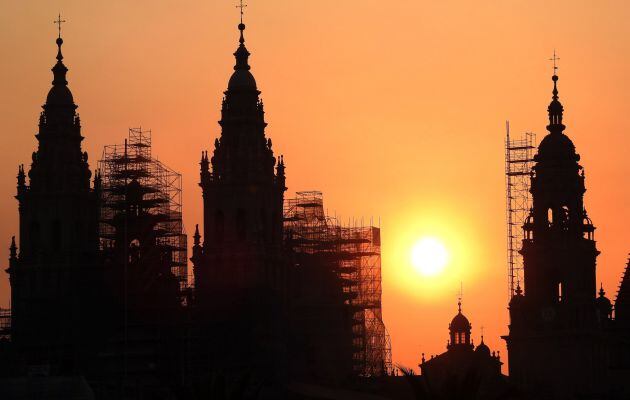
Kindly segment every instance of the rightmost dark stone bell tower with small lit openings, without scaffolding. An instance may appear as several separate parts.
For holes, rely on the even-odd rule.
[[[510,302],[510,378],[554,399],[598,393],[605,374],[602,315],[596,301],[599,254],[584,207],[584,171],[564,134],[553,75],[548,135],[534,158],[533,207],[525,225],[523,293]],[[546,397],[541,397],[546,398]]]

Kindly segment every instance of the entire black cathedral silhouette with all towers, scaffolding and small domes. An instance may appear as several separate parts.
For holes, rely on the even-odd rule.
[[[483,335],[474,345],[461,299],[446,351],[402,376],[382,318],[380,228],[339,224],[321,192],[285,198],[245,28],[241,18],[220,137],[201,153],[189,259],[181,175],[151,154],[150,132],[130,129],[90,170],[60,32],[38,148],[18,168],[0,398],[630,398],[630,262],[614,306],[603,287],[597,296],[557,74],[503,337],[509,376]]]

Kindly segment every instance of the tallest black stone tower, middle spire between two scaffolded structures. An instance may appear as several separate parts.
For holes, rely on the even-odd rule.
[[[250,72],[241,22],[234,72],[224,92],[221,136],[201,157],[204,221],[194,236],[194,303],[210,368],[279,370],[286,332],[282,257],[284,163],[265,137],[265,112]],[[220,345],[216,345],[220,343]],[[205,347],[204,347],[205,346]],[[210,354],[207,354],[210,352]],[[201,360],[201,362],[204,362]],[[207,367],[204,367],[207,368]],[[258,372],[255,372],[257,374]]]

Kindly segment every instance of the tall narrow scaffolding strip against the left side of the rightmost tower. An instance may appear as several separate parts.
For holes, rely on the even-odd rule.
[[[523,256],[519,250],[524,239],[523,224],[532,206],[529,188],[536,135],[526,132],[513,139],[509,122],[505,126],[508,298],[511,299],[517,285],[523,287]]]

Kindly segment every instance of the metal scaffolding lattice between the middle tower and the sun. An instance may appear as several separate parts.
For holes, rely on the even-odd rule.
[[[353,369],[359,376],[388,375],[391,342],[381,308],[381,239],[374,226],[342,226],[324,212],[318,191],[297,192],[284,203],[284,230],[293,251],[323,256],[341,282],[352,315]]]

